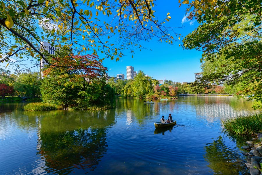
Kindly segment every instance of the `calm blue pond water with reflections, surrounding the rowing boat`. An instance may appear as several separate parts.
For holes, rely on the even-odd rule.
[[[231,97],[180,97],[143,104],[118,99],[107,111],[22,111],[0,104],[0,175],[249,174],[221,120],[254,113]],[[153,122],[171,113],[174,127]]]

